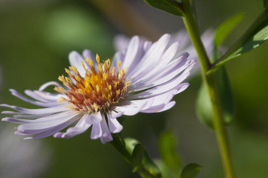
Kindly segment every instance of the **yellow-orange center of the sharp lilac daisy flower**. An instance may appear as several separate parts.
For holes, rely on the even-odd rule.
[[[69,77],[59,76],[59,80],[68,88],[55,87],[55,90],[65,94],[67,97],[61,97],[58,102],[69,102],[70,108],[82,113],[92,113],[96,111],[106,111],[111,105],[119,102],[125,95],[126,89],[130,86],[130,81],[126,82],[125,74],[128,68],[121,68],[121,61],[118,62],[118,70],[115,73],[115,67],[110,70],[110,59],[99,62],[99,56],[96,55],[98,71],[95,71],[93,61],[86,58],[89,69],[85,64],[81,64],[86,71],[82,77],[78,70],[71,66],[70,70],[65,68]]]

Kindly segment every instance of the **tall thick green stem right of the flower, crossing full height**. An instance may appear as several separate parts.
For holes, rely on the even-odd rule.
[[[201,74],[204,85],[209,89],[210,98],[213,106],[213,123],[218,140],[218,145],[222,157],[223,169],[226,178],[234,178],[233,167],[231,162],[231,156],[228,146],[227,134],[225,130],[225,125],[223,122],[223,113],[220,103],[219,91],[217,87],[217,81],[215,75],[206,76],[206,72],[210,68],[209,58],[206,54],[205,48],[200,39],[200,35],[197,30],[197,25],[193,17],[192,11],[192,0],[182,0],[183,10],[185,16],[183,17],[183,22],[189,33],[191,41],[196,48],[198,53],[200,63],[201,63]]]

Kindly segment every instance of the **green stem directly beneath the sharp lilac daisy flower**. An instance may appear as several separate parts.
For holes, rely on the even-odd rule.
[[[126,149],[124,139],[120,136],[120,134],[112,134],[112,136],[113,141],[110,141],[110,143],[115,147],[115,149],[117,149],[117,151],[124,157],[124,159],[133,166],[132,155]],[[157,176],[152,175],[142,166],[138,168],[137,172],[142,178],[158,178]]]

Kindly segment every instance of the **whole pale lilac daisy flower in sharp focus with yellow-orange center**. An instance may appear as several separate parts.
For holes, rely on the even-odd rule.
[[[132,116],[138,112],[155,113],[170,109],[175,94],[189,84],[187,78],[195,61],[187,60],[188,53],[177,54],[179,43],[170,44],[170,35],[163,35],[157,42],[140,42],[134,36],[126,50],[118,51],[113,62],[100,60],[90,50],[82,55],[69,54],[71,67],[59,81],[48,82],[39,90],[25,90],[30,99],[14,89],[11,93],[29,103],[42,106],[27,109],[1,104],[16,111],[3,111],[13,117],[2,121],[21,124],[15,134],[33,135],[24,139],[54,137],[70,138],[84,133],[92,126],[91,139],[100,138],[102,143],[113,140],[111,133],[122,131],[116,118]],[[57,93],[44,89],[54,85]],[[75,123],[66,132],[60,132]]]

